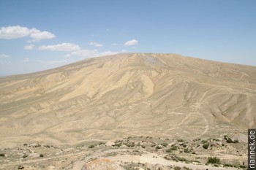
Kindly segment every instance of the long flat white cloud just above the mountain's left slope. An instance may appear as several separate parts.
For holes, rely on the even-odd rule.
[[[74,45],[72,43],[64,42],[58,45],[42,45],[38,47],[39,50],[52,50],[52,51],[78,51],[81,48],[79,45]]]

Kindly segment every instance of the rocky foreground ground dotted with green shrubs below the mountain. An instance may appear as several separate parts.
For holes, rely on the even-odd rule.
[[[0,150],[0,169],[246,169],[246,143],[129,136],[76,146],[27,143]],[[245,165],[244,165],[245,164]]]

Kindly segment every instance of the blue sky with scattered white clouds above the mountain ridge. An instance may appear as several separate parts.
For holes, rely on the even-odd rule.
[[[256,1],[0,0],[0,76],[114,53],[256,66]]]

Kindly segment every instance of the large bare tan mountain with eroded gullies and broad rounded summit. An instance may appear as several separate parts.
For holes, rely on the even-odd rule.
[[[255,127],[255,66],[129,53],[0,79],[0,147],[198,139]]]

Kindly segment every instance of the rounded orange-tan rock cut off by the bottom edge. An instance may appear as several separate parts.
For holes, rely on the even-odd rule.
[[[97,159],[94,161],[91,161],[89,163],[86,163],[82,170],[124,170],[121,166],[118,166],[118,164],[113,163],[112,161],[108,159]]]

